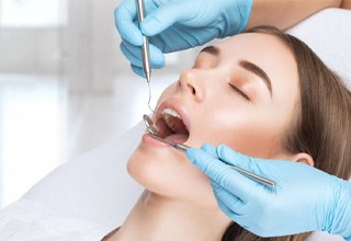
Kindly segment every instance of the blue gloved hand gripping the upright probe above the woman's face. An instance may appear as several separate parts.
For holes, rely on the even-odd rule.
[[[163,53],[172,53],[240,33],[250,16],[252,0],[144,0],[146,18],[140,28],[150,43],[152,68],[165,66]],[[124,0],[115,10],[122,36],[121,50],[132,69],[144,77],[136,0]]]

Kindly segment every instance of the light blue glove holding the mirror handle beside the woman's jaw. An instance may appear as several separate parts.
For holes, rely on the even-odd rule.
[[[188,158],[210,176],[220,209],[260,237],[313,230],[351,240],[351,183],[307,164],[262,160],[222,145],[191,148]],[[258,184],[228,168],[237,165],[276,182]]]

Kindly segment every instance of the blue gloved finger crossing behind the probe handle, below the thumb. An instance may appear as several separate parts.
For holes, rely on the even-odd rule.
[[[141,47],[132,45],[131,43],[123,41],[121,44],[121,50],[134,66],[143,67]],[[166,60],[163,53],[152,44],[149,44],[149,55],[152,69],[160,69],[165,67]]]

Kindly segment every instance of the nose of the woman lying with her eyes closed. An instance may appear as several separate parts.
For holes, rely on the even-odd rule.
[[[195,101],[201,102],[204,100],[206,92],[205,81],[208,76],[204,73],[204,70],[189,69],[182,71],[179,79],[179,87],[185,94],[190,94]]]

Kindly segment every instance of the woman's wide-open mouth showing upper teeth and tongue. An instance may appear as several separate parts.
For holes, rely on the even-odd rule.
[[[183,144],[189,139],[189,130],[181,115],[171,107],[161,110],[156,122],[158,136],[174,142]]]

